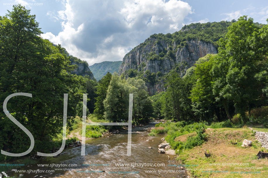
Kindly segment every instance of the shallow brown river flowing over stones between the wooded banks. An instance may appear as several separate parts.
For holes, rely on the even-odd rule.
[[[149,128],[153,127],[156,123],[158,122],[151,121],[144,126],[132,127],[131,156],[127,156],[128,135],[127,130],[125,130],[110,135],[109,137],[104,136],[87,140],[85,156],[81,156],[81,147],[71,147],[63,150],[63,153],[65,154],[62,153],[56,158],[41,158],[42,160],[38,163],[48,165],[38,166],[36,164],[19,169],[26,170],[25,173],[11,172],[10,174],[13,174],[11,176],[15,177],[19,176],[19,174],[23,174],[23,178],[32,178],[37,175],[38,177],[43,176],[54,178],[172,178],[186,175],[186,173],[182,173],[182,170],[179,167],[168,166],[178,164],[175,162],[174,156],[169,155],[170,159],[168,159],[166,154],[158,153],[158,145],[162,143],[161,138],[165,135],[157,135],[155,137],[148,136],[148,133],[150,133]],[[116,165],[119,163],[129,165]],[[70,166],[64,166],[63,164],[70,164]],[[77,164],[77,166],[72,164]],[[39,170],[39,173],[33,172],[36,170]],[[52,175],[50,175],[51,170],[55,171]],[[40,171],[44,171],[44,173],[40,173]]]

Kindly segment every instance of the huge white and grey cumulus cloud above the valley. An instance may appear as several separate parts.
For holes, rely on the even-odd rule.
[[[65,10],[47,14],[62,31],[42,37],[89,65],[118,61],[151,34],[178,31],[191,13],[188,3],[177,0],[67,0]]]

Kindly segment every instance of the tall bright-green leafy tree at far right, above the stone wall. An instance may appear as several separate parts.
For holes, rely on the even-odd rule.
[[[263,69],[263,63],[267,64],[267,40],[262,40],[260,28],[247,16],[238,18],[228,29],[226,37],[219,40],[217,66],[221,68],[214,69],[217,80],[213,88],[217,99],[234,102],[236,112],[246,122],[245,110],[250,114],[262,92],[255,76]]]

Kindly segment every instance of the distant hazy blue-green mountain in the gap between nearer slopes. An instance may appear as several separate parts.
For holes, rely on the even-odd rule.
[[[100,80],[107,72],[113,74],[114,72],[118,72],[122,61],[104,61],[101,63],[93,64],[89,66],[91,72],[93,73],[96,80]]]

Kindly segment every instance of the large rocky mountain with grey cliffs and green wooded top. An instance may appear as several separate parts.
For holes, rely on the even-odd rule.
[[[176,69],[183,77],[200,57],[216,54],[216,42],[224,37],[231,23],[234,22],[196,23],[174,34],[153,34],[125,55],[118,73],[126,78],[145,78],[150,95],[165,91],[161,76]]]

